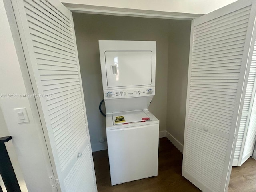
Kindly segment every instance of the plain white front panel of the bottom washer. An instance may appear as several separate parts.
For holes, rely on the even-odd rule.
[[[112,185],[157,175],[159,122],[106,133]]]

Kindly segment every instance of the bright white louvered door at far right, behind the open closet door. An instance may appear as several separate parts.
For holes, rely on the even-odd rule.
[[[256,135],[256,104],[255,96],[255,77],[256,77],[256,42],[254,42],[254,51],[252,53],[252,61],[250,72],[247,78],[246,94],[242,108],[242,117],[238,130],[238,138],[233,160],[233,166],[241,166],[250,156],[254,149]],[[254,106],[254,107],[253,107]],[[250,122],[250,124],[249,124]]]

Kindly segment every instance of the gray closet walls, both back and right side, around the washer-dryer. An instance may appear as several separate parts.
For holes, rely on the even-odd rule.
[[[74,13],[73,18],[92,150],[106,147],[106,142],[105,146],[99,143],[100,138],[106,138],[106,131],[105,118],[98,110],[103,99],[98,40],[156,41],[156,95],[149,110],[160,120],[160,131],[167,128],[168,132],[183,142],[182,120],[185,115],[183,110],[186,107],[186,90],[179,89],[186,87],[187,83],[184,75],[188,70],[186,40],[190,38],[190,21],[80,13]],[[183,38],[183,35],[187,36]],[[178,43],[179,40],[182,41],[181,44]],[[184,53],[180,54],[179,51]],[[180,56],[185,58],[179,58]],[[171,70],[168,69],[169,66]],[[172,71],[176,69],[178,71]],[[181,112],[176,114],[180,104]]]

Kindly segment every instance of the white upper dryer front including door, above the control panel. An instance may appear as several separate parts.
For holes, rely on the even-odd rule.
[[[155,41],[99,40],[99,50],[104,91],[155,87]]]

